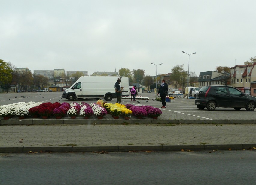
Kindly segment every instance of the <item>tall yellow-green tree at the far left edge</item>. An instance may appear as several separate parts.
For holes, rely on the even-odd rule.
[[[12,65],[0,59],[0,85],[6,89],[8,93],[12,82]]]

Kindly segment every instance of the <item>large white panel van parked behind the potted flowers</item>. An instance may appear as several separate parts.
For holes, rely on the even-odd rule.
[[[116,98],[114,85],[118,77],[80,77],[70,88],[66,89],[62,98],[69,100],[83,98],[104,98],[111,101]],[[129,96],[129,78],[119,77],[120,86],[124,87],[122,96]]]

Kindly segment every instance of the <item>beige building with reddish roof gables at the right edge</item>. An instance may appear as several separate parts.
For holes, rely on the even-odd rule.
[[[251,65],[236,65],[231,69],[231,85],[245,94],[256,96],[255,86],[251,83],[256,81],[256,62]]]

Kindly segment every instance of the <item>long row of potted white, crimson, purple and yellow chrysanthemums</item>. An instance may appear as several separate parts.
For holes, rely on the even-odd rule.
[[[103,101],[102,101],[103,102]],[[5,106],[0,106],[0,116],[4,119],[8,119],[12,116],[18,116],[20,119],[31,115],[33,118],[42,117],[44,119],[55,116],[56,119],[61,119],[63,116],[68,115],[71,119],[75,119],[76,116],[83,116],[84,119],[88,119],[94,115],[98,119],[102,119],[106,114],[111,114],[114,119],[118,119],[122,116],[124,119],[130,119],[133,115],[138,118],[145,116],[158,117],[162,114],[159,108],[152,106],[134,106],[131,104],[112,104],[112,103],[91,103],[90,105],[85,102],[67,102],[63,103],[42,103],[42,102],[29,102],[29,103],[14,103]]]

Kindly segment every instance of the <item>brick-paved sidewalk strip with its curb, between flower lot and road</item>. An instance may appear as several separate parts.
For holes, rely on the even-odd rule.
[[[242,150],[256,147],[255,124],[216,124],[99,125],[88,121],[86,124],[2,125],[0,153]]]

